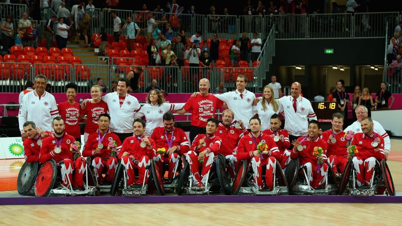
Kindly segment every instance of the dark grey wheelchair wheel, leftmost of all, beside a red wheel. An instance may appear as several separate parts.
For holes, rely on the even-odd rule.
[[[25,162],[22,165],[17,178],[17,191],[20,195],[28,194],[34,186],[38,168],[38,162]]]

